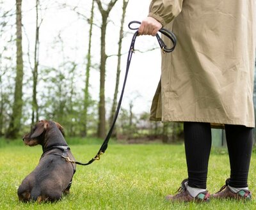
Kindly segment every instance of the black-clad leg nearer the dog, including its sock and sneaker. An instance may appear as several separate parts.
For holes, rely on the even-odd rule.
[[[185,151],[188,179],[184,179],[176,195],[167,195],[172,202],[207,202],[206,190],[209,155],[211,151],[211,124],[184,122]]]

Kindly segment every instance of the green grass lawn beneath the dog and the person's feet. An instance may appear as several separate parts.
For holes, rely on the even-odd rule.
[[[70,145],[77,161],[88,161],[97,144]],[[0,209],[255,209],[256,202],[211,200],[207,204],[171,204],[165,195],[175,193],[187,177],[184,146],[163,144],[111,144],[100,161],[77,166],[70,195],[56,203],[22,203],[17,188],[40,158],[40,146],[0,148]],[[248,183],[256,193],[256,154],[253,153]],[[228,154],[213,150],[207,188],[215,192],[229,174]]]

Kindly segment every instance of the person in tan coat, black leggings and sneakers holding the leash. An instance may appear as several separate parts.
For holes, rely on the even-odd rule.
[[[152,0],[141,22],[140,35],[155,36],[165,27],[177,36],[175,50],[161,54],[150,114],[155,121],[184,122],[188,179],[179,193],[166,197],[170,201],[252,197],[247,182],[255,122],[255,14],[254,0]],[[225,128],[230,177],[210,197],[211,128]]]

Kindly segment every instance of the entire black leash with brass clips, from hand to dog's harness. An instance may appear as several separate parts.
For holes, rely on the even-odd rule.
[[[128,56],[127,56],[127,64],[126,64],[126,71],[125,71],[125,77],[124,77],[124,84],[123,84],[123,87],[122,87],[122,92],[120,94],[118,105],[116,107],[116,112],[115,112],[113,122],[112,122],[111,127],[108,131],[108,135],[106,136],[106,138],[105,138],[102,146],[100,147],[98,153],[95,155],[94,158],[92,158],[92,160],[88,161],[88,163],[80,163],[80,162],[77,162],[77,161],[72,161],[72,160],[67,160],[66,159],[67,161],[70,161],[72,163],[76,163],[78,165],[90,165],[91,163],[93,163],[93,161],[100,160],[100,155],[104,154],[106,149],[108,148],[108,142],[109,142],[111,134],[114,130],[116,119],[118,117],[118,113],[119,113],[121,103],[122,103],[122,99],[123,99],[123,96],[124,96],[124,89],[125,89],[125,84],[126,84],[126,80],[127,80],[127,76],[128,76],[128,71],[129,71],[129,67],[130,67],[130,64],[131,64],[132,54],[134,53],[134,44],[135,44],[135,41],[136,41],[136,37],[138,36],[138,27],[135,27],[135,28],[131,27],[131,24],[141,24],[141,22],[132,21],[128,24],[129,29],[136,30],[136,31],[132,36],[131,46],[130,46]],[[176,43],[177,43],[175,34],[173,34],[171,31],[168,31],[167,29],[164,29],[163,27],[159,30],[159,32],[164,34],[164,36],[167,36],[173,43],[173,46],[171,48],[167,48],[167,46],[164,44],[164,41],[160,38],[159,34],[156,34],[157,41],[158,41],[161,49],[163,50],[163,53],[172,52],[175,49],[175,46],[176,46]]]

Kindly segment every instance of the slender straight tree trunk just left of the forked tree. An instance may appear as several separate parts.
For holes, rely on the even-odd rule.
[[[89,47],[87,52],[87,64],[86,64],[86,79],[84,88],[84,130],[82,131],[82,136],[87,135],[87,124],[88,124],[88,106],[89,106],[89,79],[90,79],[90,68],[91,68],[91,47],[92,47],[92,26],[93,26],[93,8],[94,0],[92,0],[91,17],[90,17],[90,30],[89,30]]]

